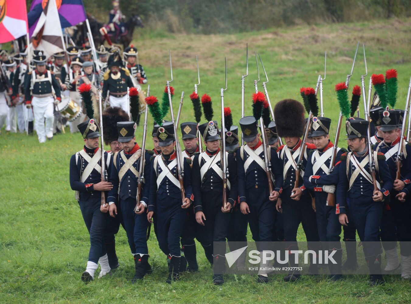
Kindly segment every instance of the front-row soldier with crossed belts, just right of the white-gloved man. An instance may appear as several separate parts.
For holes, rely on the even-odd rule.
[[[348,197],[351,217],[363,242],[363,251],[370,271],[369,281],[375,285],[383,283],[379,227],[383,214],[382,202],[388,199],[393,180],[384,154],[372,152],[377,188],[381,189],[374,191],[367,148],[368,128],[369,122],[365,120],[349,120],[346,123],[351,152],[341,155],[335,212],[339,214],[339,222],[347,225],[345,209]]]

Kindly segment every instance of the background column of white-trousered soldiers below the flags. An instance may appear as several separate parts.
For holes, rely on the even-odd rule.
[[[147,83],[143,67],[135,62],[138,52],[134,46],[125,49],[125,61],[116,47],[100,46],[96,50],[97,58],[92,57],[92,49],[85,45],[68,47],[67,54],[55,53],[49,58],[42,51],[34,50],[30,56],[27,52],[25,48],[12,57],[1,51],[5,78],[0,83],[0,126],[6,125],[6,131],[18,130],[29,135],[35,130],[40,143],[61,133],[66,124],[72,133],[79,131],[77,125],[86,119],[78,92],[82,83],[93,85],[96,111],[98,86],[103,88],[106,106],[121,106],[127,111],[127,88],[137,87],[143,94],[141,84]],[[110,56],[113,58],[109,62]],[[69,118],[61,114],[69,103],[61,103],[62,98],[73,101],[73,107],[77,108]]]

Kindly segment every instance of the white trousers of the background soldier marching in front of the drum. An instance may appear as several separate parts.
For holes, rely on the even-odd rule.
[[[31,101],[33,105],[33,113],[37,131],[37,137],[40,143],[53,137],[53,122],[54,122],[54,99],[52,96],[48,97],[33,97]],[[44,120],[46,120],[46,127],[44,128]]]

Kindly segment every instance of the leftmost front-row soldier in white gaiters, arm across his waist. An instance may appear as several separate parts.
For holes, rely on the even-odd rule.
[[[103,242],[104,230],[110,220],[109,213],[100,211],[101,191],[113,188],[111,182],[101,181],[101,152],[99,151],[99,127],[94,119],[78,125],[84,138],[83,150],[70,159],[70,186],[76,191],[81,214],[90,233],[90,253],[87,268],[81,275],[84,282],[94,279],[97,262],[100,263],[99,278],[110,272],[109,260]],[[107,171],[110,174],[111,154],[104,152]],[[106,206],[102,206],[106,207]]]

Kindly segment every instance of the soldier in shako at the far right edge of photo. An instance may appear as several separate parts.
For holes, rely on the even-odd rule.
[[[379,111],[380,131],[383,140],[374,147],[375,151],[385,155],[391,178],[394,181],[393,190],[390,193],[389,203],[384,204],[383,216],[381,220],[381,241],[386,252],[387,265],[386,272],[392,272],[399,267],[397,254],[397,240],[401,250],[402,260],[411,256],[411,225],[410,221],[404,218],[404,214],[409,214],[411,208],[409,203],[403,203],[396,197],[406,185],[411,184],[411,146],[405,140],[400,141],[401,135],[401,111],[389,110]],[[402,143],[400,178],[397,179],[397,154],[399,145]],[[404,267],[404,265],[402,265]],[[405,270],[405,269],[404,269]]]

